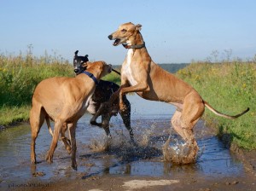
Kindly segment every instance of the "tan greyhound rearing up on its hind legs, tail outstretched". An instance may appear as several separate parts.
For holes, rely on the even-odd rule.
[[[128,49],[121,69],[121,86],[111,101],[119,97],[119,107],[123,108],[125,107],[123,95],[128,92],[137,92],[144,99],[165,101],[176,106],[172,126],[188,143],[190,151],[184,163],[195,161],[199,148],[195,141],[193,127],[201,119],[205,107],[227,119],[236,119],[247,113],[249,108],[235,116],[216,111],[189,84],[172,73],[166,72],[152,61],[143,41],[141,28],[140,24],[134,25],[129,22],[120,25],[116,32],[108,36],[110,40],[114,40],[113,46],[123,44],[125,49]]]

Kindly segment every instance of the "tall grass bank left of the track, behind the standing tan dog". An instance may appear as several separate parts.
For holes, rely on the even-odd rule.
[[[0,124],[27,120],[36,85],[44,78],[73,76],[72,68],[51,56],[0,55]]]

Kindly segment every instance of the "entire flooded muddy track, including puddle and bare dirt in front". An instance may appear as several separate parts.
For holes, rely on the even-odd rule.
[[[90,114],[84,114],[76,131],[78,171],[70,166],[62,142],[53,164],[44,160],[51,142],[46,124],[36,142],[37,165],[30,161],[29,124],[1,130],[0,190],[254,190],[255,176],[247,173],[241,159],[230,153],[203,121],[195,127],[200,148],[195,163],[166,161],[170,148],[179,156],[186,149],[170,128],[175,108],[137,96],[128,99],[136,144],[130,142],[119,116],[111,119],[112,139],[108,140],[104,130],[89,124]]]

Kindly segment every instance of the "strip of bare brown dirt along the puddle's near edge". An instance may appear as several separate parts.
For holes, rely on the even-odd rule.
[[[94,176],[86,179],[62,180],[57,182],[34,182],[27,185],[10,185],[10,190],[255,190],[255,177],[119,177]],[[2,190],[2,189],[1,189]]]

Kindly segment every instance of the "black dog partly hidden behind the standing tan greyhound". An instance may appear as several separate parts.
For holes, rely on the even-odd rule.
[[[86,70],[84,63],[89,61],[88,55],[79,56],[78,53],[79,50],[75,51],[75,55],[73,57],[73,67],[76,75],[79,75]],[[106,131],[107,136],[110,136],[109,120],[113,115],[117,115],[117,113],[119,113],[123,119],[126,129],[130,132],[131,141],[134,141],[131,129],[131,104],[127,100],[126,96],[123,97],[125,102],[125,110],[123,111],[119,110],[119,99],[116,99],[116,101],[113,102],[113,106],[111,108],[106,107],[107,105],[103,104],[104,102],[109,101],[110,96],[112,96],[113,92],[117,90],[119,90],[118,84],[102,79],[99,81],[99,84],[96,85],[94,95],[90,99],[89,107],[87,108],[87,111],[93,114],[93,117],[90,119],[90,124],[102,127]],[[99,116],[102,116],[102,123],[96,122],[96,119]]]

